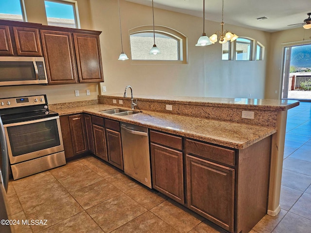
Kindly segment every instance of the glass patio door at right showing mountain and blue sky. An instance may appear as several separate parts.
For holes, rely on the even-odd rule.
[[[311,44],[284,47],[282,99],[311,100]]]

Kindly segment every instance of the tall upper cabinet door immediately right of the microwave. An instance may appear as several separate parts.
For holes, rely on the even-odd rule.
[[[49,84],[77,83],[71,33],[41,30]]]

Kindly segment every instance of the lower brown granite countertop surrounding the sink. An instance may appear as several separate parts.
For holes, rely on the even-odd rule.
[[[276,128],[273,127],[255,126],[190,116],[177,116],[151,111],[143,111],[139,114],[128,116],[115,116],[100,113],[100,111],[114,108],[116,108],[116,106],[105,104],[88,104],[78,107],[50,105],[50,110],[58,112],[60,116],[88,113],[235,149],[244,149],[276,133]]]

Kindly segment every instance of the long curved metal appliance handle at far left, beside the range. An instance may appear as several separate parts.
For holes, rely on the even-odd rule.
[[[2,120],[0,118],[0,143],[1,143],[1,152],[2,152],[2,178],[3,178],[3,186],[5,191],[8,190],[9,183],[9,154],[8,154],[8,146],[6,142],[4,127],[2,124]]]

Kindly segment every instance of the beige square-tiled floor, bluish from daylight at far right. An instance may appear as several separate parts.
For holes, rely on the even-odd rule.
[[[281,212],[264,216],[251,233],[311,233],[311,103],[288,116]],[[15,225],[17,233],[225,232],[92,156],[10,181],[8,200],[20,223],[47,219]]]

